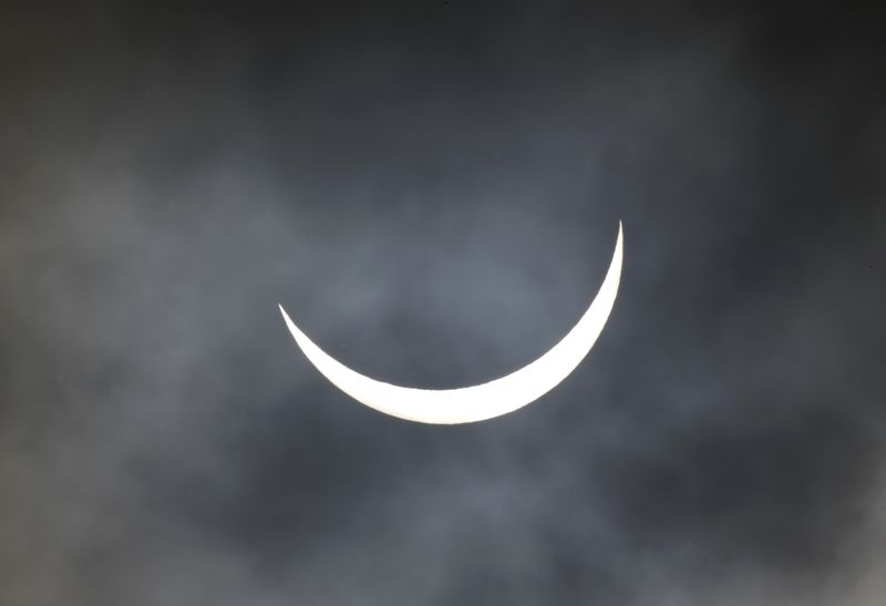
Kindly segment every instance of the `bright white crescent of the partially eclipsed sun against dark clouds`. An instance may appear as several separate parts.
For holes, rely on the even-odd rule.
[[[588,355],[597,341],[618,294],[621,276],[621,224],[609,270],[600,290],[578,323],[537,360],[487,383],[457,389],[418,389],[377,381],[351,370],[317,347],[289,319],[280,312],[296,342],[332,384],[341,391],[392,417],[420,423],[472,423],[499,417],[525,407],[540,398],[563,381]]]

